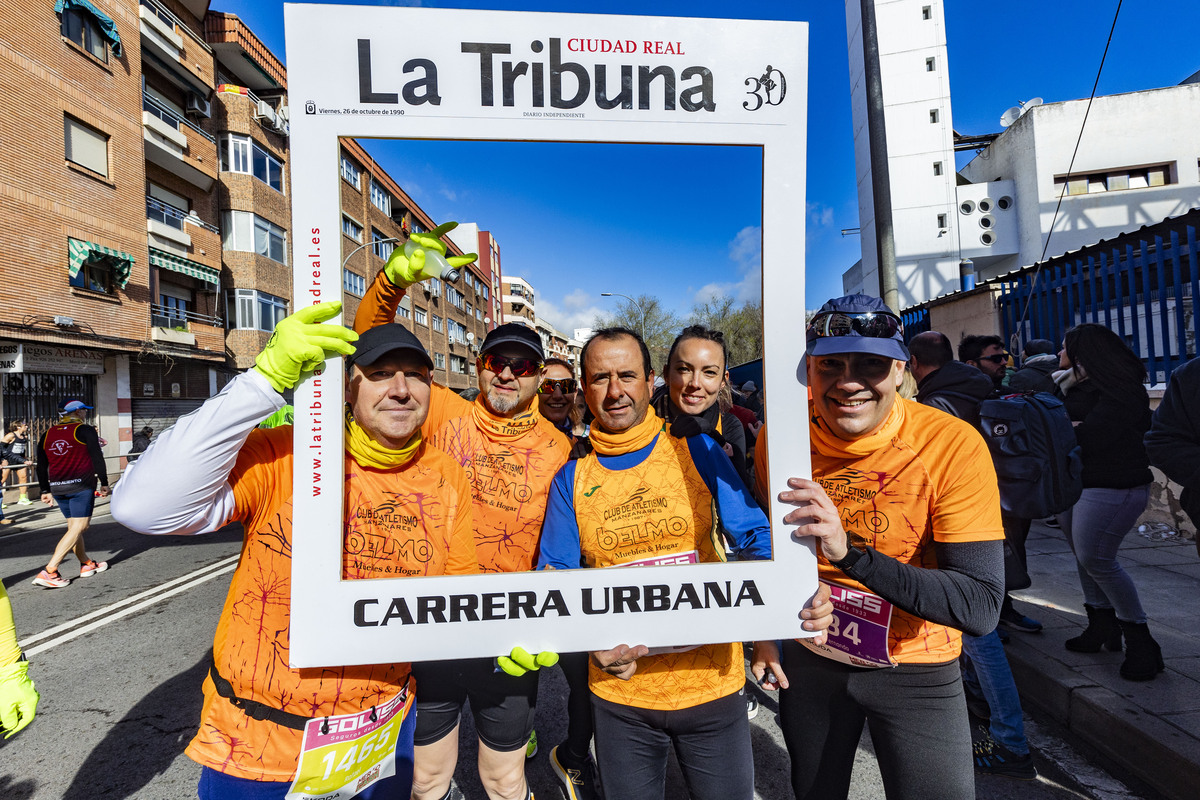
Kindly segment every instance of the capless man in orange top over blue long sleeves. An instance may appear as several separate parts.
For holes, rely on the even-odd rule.
[[[539,567],[724,560],[714,500],[740,557],[770,558],[767,517],[720,445],[700,432],[679,438],[664,429],[650,407],[654,371],[641,337],[624,327],[599,330],[581,360],[595,415],[593,452],[554,477]],[[606,527],[638,533],[606,541]],[[828,606],[822,597],[804,609],[805,627],[828,625]],[[696,800],[752,798],[743,664],[740,643],[593,652],[588,678],[605,794],[661,799],[673,747]]]

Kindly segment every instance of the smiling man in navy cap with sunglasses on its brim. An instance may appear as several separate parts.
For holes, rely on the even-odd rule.
[[[836,624],[784,643],[780,698],[796,796],[845,798],[864,721],[888,796],[972,798],[960,631],[996,627],[1000,493],[983,438],[898,396],[908,350],[876,297],[830,300],[808,327],[812,477],[779,499],[818,546]],[[755,669],[778,667],[760,644]],[[820,702],[814,702],[820,698]]]

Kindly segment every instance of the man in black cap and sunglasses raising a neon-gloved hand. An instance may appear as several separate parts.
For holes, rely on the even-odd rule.
[[[455,225],[444,223],[428,234],[414,234],[420,249],[410,254],[401,247],[392,252],[359,305],[356,330],[367,331],[394,319],[408,287],[439,276],[438,258],[446,253],[439,237]],[[472,260],[473,254],[446,259],[451,265]],[[570,452],[566,438],[535,403],[544,361],[541,338],[533,329],[500,325],[480,345],[480,393],[473,403],[436,384],[431,392],[432,413],[424,431],[430,444],[461,464],[470,481],[476,557],[484,572],[533,567],[550,482]],[[556,662],[557,655],[545,654],[541,661],[536,656],[515,657],[516,650],[512,655],[500,658],[502,672],[493,658],[414,664],[419,687],[416,800],[455,796],[458,724],[468,699],[479,734],[479,777],[488,796],[529,796],[524,760],[527,748],[536,747],[530,738],[538,667]]]

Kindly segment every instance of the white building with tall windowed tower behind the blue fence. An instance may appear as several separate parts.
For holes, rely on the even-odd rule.
[[[1097,97],[1069,182],[1086,100],[1027,106],[956,174],[942,2],[875,8],[901,308],[959,290],[964,259],[977,279],[1039,261],[1063,184],[1046,258],[1200,205],[1200,84]],[[842,284],[880,294],[858,0],[846,29],[863,260]]]

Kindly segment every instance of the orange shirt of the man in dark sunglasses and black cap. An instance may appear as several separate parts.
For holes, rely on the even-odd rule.
[[[482,403],[482,398],[476,398]],[[475,501],[475,552],[484,572],[524,572],[538,558],[546,498],[570,445],[535,409],[520,437],[493,437],[474,415],[450,420],[430,444],[462,465]]]

